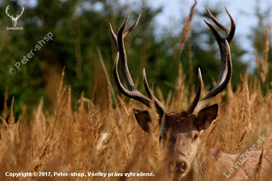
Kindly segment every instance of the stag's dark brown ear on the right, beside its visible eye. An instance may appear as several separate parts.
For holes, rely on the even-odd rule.
[[[198,131],[209,128],[213,120],[217,118],[218,104],[203,108],[196,117],[195,126]]]

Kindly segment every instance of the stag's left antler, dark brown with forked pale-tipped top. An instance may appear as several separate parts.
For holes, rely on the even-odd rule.
[[[117,36],[114,34],[111,25],[110,26],[110,34],[111,34],[111,38],[114,42],[114,45],[116,47],[116,49],[118,50],[116,59],[114,61],[114,66],[113,66],[113,76],[114,76],[114,80],[115,83],[118,87],[118,89],[127,97],[136,99],[138,101],[140,101],[141,103],[143,103],[144,105],[148,106],[151,108],[151,104],[153,103],[150,99],[148,99],[147,97],[145,97],[143,94],[141,94],[135,87],[133,80],[131,78],[129,69],[128,69],[128,65],[127,65],[127,56],[126,56],[126,51],[125,51],[125,45],[124,45],[124,38],[126,37],[126,35],[128,35],[136,26],[137,23],[139,21],[140,15],[137,17],[135,23],[127,30],[124,31],[126,28],[126,25],[128,23],[128,19],[129,19],[129,14],[127,15],[127,17],[125,18],[124,22],[122,23],[122,25],[120,26]],[[125,82],[128,86],[129,90],[126,90],[120,79],[118,76],[118,72],[117,72],[117,64],[118,64],[118,57],[120,56],[120,64],[121,64],[121,71],[122,74],[124,76]],[[145,79],[146,81],[146,79]],[[145,82],[144,81],[144,82]],[[146,81],[147,83],[147,81]],[[148,85],[147,85],[148,86]],[[146,87],[146,85],[145,85]],[[165,113],[165,108],[163,106],[163,104],[152,94],[151,90],[148,88],[147,89],[147,94],[148,96],[154,100],[155,102],[155,106],[156,106],[156,111],[157,113],[162,116]],[[148,89],[150,90],[150,92],[148,91]]]

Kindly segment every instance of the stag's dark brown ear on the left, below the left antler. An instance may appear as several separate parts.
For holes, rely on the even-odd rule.
[[[137,108],[134,108],[133,111],[141,129],[145,131],[146,133],[150,133],[150,128],[148,123],[151,123],[151,117],[149,114],[152,114],[152,113],[147,110],[141,110]]]

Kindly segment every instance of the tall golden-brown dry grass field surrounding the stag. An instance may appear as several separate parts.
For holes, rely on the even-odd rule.
[[[32,115],[23,111],[18,120],[4,110],[0,124],[0,180],[1,181],[165,181],[173,179],[173,169],[168,173],[165,167],[166,148],[159,142],[160,129],[154,129],[153,134],[143,132],[138,126],[133,108],[142,108],[136,100],[125,101],[109,93],[98,93],[100,99],[94,103],[84,97],[79,97],[77,110],[72,110],[71,89],[63,85],[63,77],[56,90],[55,110],[49,114],[43,107],[43,97],[40,104],[33,108]],[[183,74],[180,70],[180,79],[177,86],[180,91],[173,96],[170,92],[167,99],[160,96],[160,101],[168,110],[186,110],[188,100],[187,88],[183,83]],[[214,126],[204,131],[201,136],[204,149],[216,147],[226,153],[236,154],[257,144],[259,136],[267,140],[258,147],[259,150],[271,149],[272,140],[272,91],[262,96],[258,80],[248,80],[247,73],[241,77],[241,85],[233,92],[231,85],[216,96],[211,104],[218,103],[218,119]],[[109,92],[112,85],[109,83]],[[156,89],[157,92],[159,88]],[[95,90],[94,90],[95,91]],[[207,90],[203,90],[205,95]],[[202,95],[202,96],[203,96]],[[116,97],[117,96],[117,97]],[[191,98],[194,97],[192,94]],[[113,101],[117,100],[114,108]],[[5,100],[6,101],[6,100]],[[108,106],[100,107],[100,102],[106,101]],[[6,105],[6,104],[5,104]],[[6,106],[5,106],[6,109]],[[152,110],[151,110],[152,111]],[[27,122],[27,118],[31,121]],[[195,159],[198,159],[196,156]],[[197,160],[201,164],[202,160]],[[256,165],[256,181],[259,173]],[[215,172],[213,164],[208,164],[205,177],[213,175],[215,181],[226,180],[220,173]],[[83,173],[81,176],[53,176],[53,177],[6,177],[8,173],[50,172]],[[88,176],[88,173],[107,173],[103,176]],[[109,174],[111,176],[109,177]],[[122,173],[123,177],[120,176]],[[154,176],[130,177],[125,173],[152,173]],[[119,176],[117,176],[119,174]],[[85,176],[86,175],[86,176]]]

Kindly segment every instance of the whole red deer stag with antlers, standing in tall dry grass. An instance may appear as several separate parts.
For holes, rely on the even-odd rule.
[[[144,69],[143,69],[143,84],[150,99],[145,97],[143,94],[141,94],[136,89],[133,83],[133,80],[131,78],[128,65],[127,65],[124,38],[134,28],[136,28],[140,15],[137,17],[135,23],[128,30],[125,31],[125,28],[129,19],[129,14],[128,14],[123,24],[119,28],[117,36],[114,34],[112,27],[109,24],[110,35],[118,51],[115,62],[114,62],[114,66],[113,66],[113,76],[114,76],[115,83],[118,89],[127,97],[136,99],[137,101],[140,101],[147,107],[150,107],[150,108],[155,107],[156,112],[159,114],[159,120],[158,120],[159,124],[160,125],[162,124],[161,125],[162,132],[160,135],[161,138],[165,140],[167,133],[171,131],[170,139],[169,139],[168,155],[169,155],[169,163],[170,164],[174,163],[176,165],[175,177],[182,178],[185,176],[186,177],[185,180],[187,181],[203,180],[206,166],[205,164],[202,164],[201,165],[202,168],[196,168],[196,163],[195,163],[196,161],[194,159],[196,157],[197,151],[199,149],[199,145],[201,143],[198,137],[202,133],[203,130],[206,130],[209,128],[213,120],[217,118],[217,113],[218,113],[218,104],[214,104],[208,107],[205,107],[205,105],[207,105],[213,97],[215,97],[218,93],[220,93],[222,90],[226,88],[232,73],[229,45],[231,44],[233,40],[236,25],[235,25],[235,21],[233,17],[227,10],[227,7],[226,7],[226,11],[231,21],[230,30],[224,25],[222,25],[210,13],[210,11],[207,8],[207,12],[210,18],[220,29],[222,29],[225,32],[226,38],[222,38],[220,34],[218,33],[218,31],[215,29],[215,27],[212,26],[210,23],[208,23],[206,20],[204,20],[205,23],[212,30],[220,48],[222,65],[221,65],[221,70],[220,70],[217,84],[204,98],[199,100],[200,94],[201,94],[201,88],[202,88],[202,78],[201,78],[200,69],[198,69],[198,85],[197,85],[195,98],[190,103],[189,108],[183,112],[170,112],[165,109],[164,105],[153,95],[152,91],[150,90],[146,80]],[[125,82],[129,90],[123,87],[118,76],[117,64],[118,64],[119,57],[121,62],[122,74],[125,78]],[[151,122],[150,113],[147,110],[140,110],[137,108],[134,108],[134,113],[135,113],[136,120],[139,126],[141,127],[141,129],[149,133],[150,132],[149,123]],[[256,163],[259,162],[261,153],[262,153],[261,151],[254,150],[254,152],[250,153],[251,156],[248,157],[247,160],[245,160],[245,162],[243,163],[241,162],[241,164],[237,165],[235,162],[238,160],[237,158],[240,155],[226,154],[214,148],[210,150],[211,158],[214,160],[213,166],[218,168],[224,166],[222,167],[222,169],[224,168],[224,173],[226,176],[226,177],[225,176],[223,177],[224,180],[231,179],[233,181],[253,181],[254,168]],[[268,152],[268,154],[266,154],[266,151],[263,152],[263,154],[266,154],[265,157],[263,158],[263,163],[262,163],[263,165],[262,171],[264,175],[268,173],[268,170],[270,168],[269,166],[271,163],[270,161],[271,159],[269,158],[272,157],[271,153],[272,152]],[[204,154],[202,155],[203,156],[202,158],[205,159],[205,152],[202,152],[202,154]],[[235,168],[236,167],[237,168],[233,176],[231,176],[231,174],[229,173],[229,169],[232,168],[233,165],[235,166]],[[221,172],[222,172],[222,169],[221,169]],[[198,170],[198,172],[196,172],[196,170]],[[266,175],[266,178],[269,178],[268,175]],[[266,181],[267,180],[269,179],[266,179]],[[272,181],[271,177],[270,177],[270,181]]]

